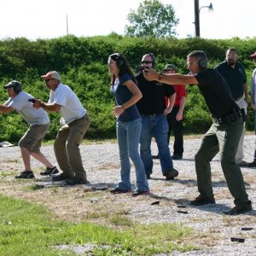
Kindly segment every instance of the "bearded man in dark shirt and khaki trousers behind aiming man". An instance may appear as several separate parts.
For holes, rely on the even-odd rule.
[[[215,69],[220,73],[230,86],[231,94],[236,104],[241,109],[244,121],[247,115],[247,75],[244,67],[240,61],[237,61],[237,50],[234,48],[227,49],[225,60],[219,63]],[[248,163],[243,160],[243,143],[246,128],[244,122],[244,128],[241,133],[241,138],[236,152],[236,163],[240,166],[248,166]]]

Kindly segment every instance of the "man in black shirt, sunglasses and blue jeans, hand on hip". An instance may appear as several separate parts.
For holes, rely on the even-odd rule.
[[[154,55],[151,53],[143,55],[141,64],[142,70],[144,69],[147,72],[147,68],[155,66]],[[166,115],[172,111],[176,96],[175,90],[172,86],[146,80],[142,72],[137,73],[136,79],[138,88],[143,93],[143,98],[137,102],[137,108],[143,122],[140,152],[147,178],[150,178],[153,171],[151,140],[154,137],[159,151],[162,174],[166,177],[166,180],[171,180],[177,177],[178,172],[173,168],[170,148],[167,143],[169,125]],[[170,100],[168,107],[166,107],[165,97]]]

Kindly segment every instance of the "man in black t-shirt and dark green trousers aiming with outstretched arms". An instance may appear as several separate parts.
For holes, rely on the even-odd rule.
[[[160,81],[165,84],[198,84],[212,113],[213,124],[195,154],[195,171],[200,195],[191,201],[190,205],[197,207],[215,204],[210,162],[219,152],[224,176],[236,205],[224,213],[236,215],[251,211],[252,202],[248,200],[241,169],[235,161],[243,129],[240,108],[233,100],[224,78],[214,69],[207,68],[207,55],[203,51],[191,52],[187,57],[187,63],[191,73],[189,75],[159,74],[155,73],[154,69],[149,69],[148,73],[144,73],[144,77],[149,81]]]

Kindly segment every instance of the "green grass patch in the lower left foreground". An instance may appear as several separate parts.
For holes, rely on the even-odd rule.
[[[54,220],[43,206],[0,195],[0,216],[5,220],[0,230],[0,255],[75,255],[73,245],[95,244],[92,255],[153,255],[185,252],[195,246],[183,242],[191,229],[180,224],[131,224],[116,218],[125,229],[82,222]],[[10,223],[10,224],[8,224]],[[69,245],[66,250],[56,246]],[[106,246],[108,247],[102,247]]]

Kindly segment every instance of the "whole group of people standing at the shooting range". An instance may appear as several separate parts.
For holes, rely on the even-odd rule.
[[[256,52],[250,57],[256,63]],[[115,99],[113,116],[116,118],[120,160],[120,182],[110,192],[131,192],[131,158],[137,178],[137,188],[132,195],[149,194],[148,179],[153,172],[153,137],[157,144],[163,176],[166,180],[178,176],[172,159],[183,158],[185,85],[197,84],[212,114],[213,123],[195,154],[199,196],[190,205],[197,207],[215,204],[210,162],[219,152],[224,177],[230,194],[235,198],[235,207],[224,213],[236,215],[248,212],[252,210],[252,202],[248,199],[240,166],[256,166],[256,149],[253,162],[246,163],[243,160],[243,139],[247,116],[247,78],[244,68],[237,61],[237,51],[228,49],[225,60],[212,69],[207,68],[205,52],[195,50],[187,56],[187,65],[190,72],[188,75],[176,73],[177,67],[173,64],[166,65],[163,73],[156,73],[154,55],[148,53],[143,55],[140,72],[134,75],[124,55],[109,55],[110,91]],[[61,84],[59,73],[49,72],[42,78],[50,90],[47,103],[23,92],[17,81],[4,85],[8,90],[9,100],[0,105],[0,112],[16,110],[30,124],[19,142],[25,171],[17,178],[34,177],[30,155],[46,166],[41,175],[59,172],[40,152],[40,146],[49,129],[46,112],[60,112],[62,126],[55,139],[54,150],[62,173],[53,176],[53,180],[65,180],[67,184],[87,183],[79,144],[90,126],[88,113],[73,90]],[[255,110],[256,68],[253,71],[251,88],[252,106]],[[175,136],[172,156],[169,148],[171,129]]]

